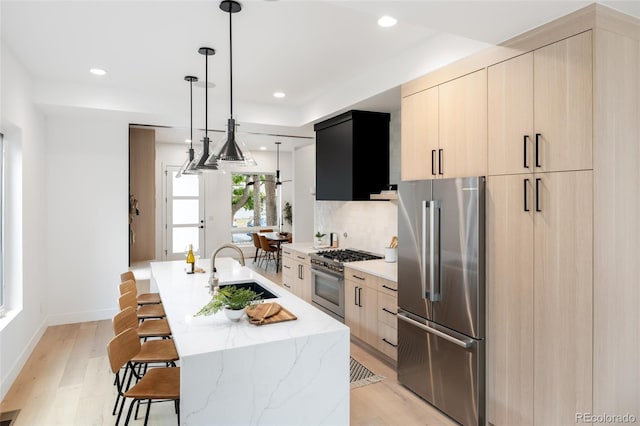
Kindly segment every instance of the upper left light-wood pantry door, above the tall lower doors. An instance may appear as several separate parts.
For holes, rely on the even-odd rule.
[[[533,171],[533,52],[490,66],[487,75],[489,175]]]

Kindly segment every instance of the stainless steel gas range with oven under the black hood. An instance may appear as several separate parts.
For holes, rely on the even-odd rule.
[[[344,322],[344,263],[382,259],[374,253],[353,249],[322,250],[312,253],[311,301]]]

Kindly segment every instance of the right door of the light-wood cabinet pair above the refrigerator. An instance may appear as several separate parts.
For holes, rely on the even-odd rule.
[[[438,173],[444,177],[487,174],[487,71],[439,87]]]

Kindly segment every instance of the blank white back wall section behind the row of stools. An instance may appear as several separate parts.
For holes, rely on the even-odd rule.
[[[111,318],[128,269],[127,122],[47,119],[49,323]]]

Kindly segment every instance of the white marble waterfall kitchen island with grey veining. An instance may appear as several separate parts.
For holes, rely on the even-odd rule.
[[[210,299],[206,273],[184,261],[151,263],[180,355],[183,425],[348,425],[349,328],[283,287],[216,259],[220,284],[252,280],[297,319],[267,325],[194,314]]]

